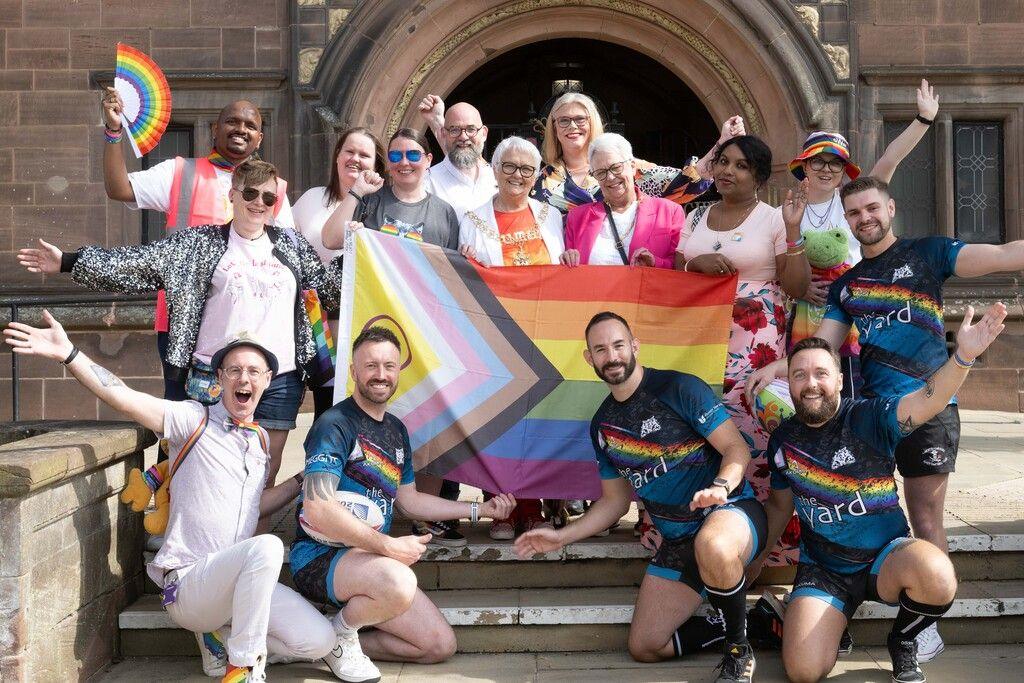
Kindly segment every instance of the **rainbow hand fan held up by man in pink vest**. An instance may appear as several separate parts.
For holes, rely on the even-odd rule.
[[[171,88],[164,72],[150,55],[118,43],[114,89],[124,101],[121,120],[135,156],[148,154],[171,120]]]

